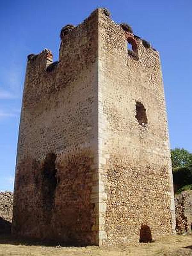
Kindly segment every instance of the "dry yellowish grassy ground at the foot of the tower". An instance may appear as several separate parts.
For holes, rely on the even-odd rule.
[[[192,235],[123,247],[50,247],[0,238],[0,256],[192,256]]]

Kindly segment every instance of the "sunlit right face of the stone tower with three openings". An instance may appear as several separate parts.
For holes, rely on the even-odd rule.
[[[131,38],[128,40],[134,42],[138,54],[128,54],[125,38]],[[141,124],[136,119],[137,102],[146,110],[147,121],[143,119]],[[150,232],[156,239],[174,230],[172,169],[159,54],[100,12],[100,244],[142,241],[145,238],[140,235]]]

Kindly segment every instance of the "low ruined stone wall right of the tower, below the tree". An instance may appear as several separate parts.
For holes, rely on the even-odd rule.
[[[177,234],[192,229],[192,191],[183,191],[175,196],[175,215]]]

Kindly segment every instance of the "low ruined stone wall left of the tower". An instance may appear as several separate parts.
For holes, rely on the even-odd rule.
[[[13,193],[0,192],[0,234],[11,232]]]

